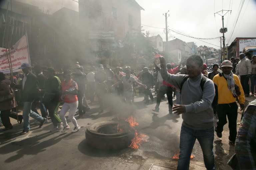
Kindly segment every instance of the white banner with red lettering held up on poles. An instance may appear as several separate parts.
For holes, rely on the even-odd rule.
[[[10,52],[8,51],[8,55],[11,56],[13,72],[22,71],[21,69],[19,69],[19,67],[24,62],[30,64],[30,56],[26,35],[24,35],[18,42],[15,43],[15,45],[11,47]],[[0,72],[3,72],[5,74],[10,73],[5,48],[0,48]]]

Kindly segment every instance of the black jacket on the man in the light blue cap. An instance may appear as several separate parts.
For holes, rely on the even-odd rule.
[[[32,102],[40,96],[39,93],[39,83],[37,77],[33,73],[27,75],[27,80],[25,82],[24,88],[22,89],[24,78],[21,81],[20,85],[15,87],[21,89],[21,100],[23,102]]]

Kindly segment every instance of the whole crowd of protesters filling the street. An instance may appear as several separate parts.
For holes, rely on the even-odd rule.
[[[256,55],[249,60],[241,53],[239,58],[224,60],[220,68],[218,64],[213,64],[211,72],[207,71],[207,65],[203,64],[198,55],[190,56],[187,61],[181,61],[176,67],[174,63],[166,64],[164,57],[156,59],[154,64],[155,68],[152,69],[143,65],[136,75],[129,66],[112,70],[109,65],[102,64],[98,65],[97,71],[91,67],[85,74],[84,68],[76,63],[72,71],[64,70],[62,74],[57,75],[51,67],[36,65],[32,68],[30,64],[23,63],[20,68],[24,74],[11,77],[10,79],[14,80],[12,82],[0,72],[0,117],[5,126],[4,130],[13,128],[9,117],[16,119],[20,124],[23,120],[23,131],[20,133],[23,135],[30,132],[29,117],[38,121],[41,128],[49,116],[53,124],[50,131],[65,132],[70,129],[65,118],[69,111],[68,119],[74,125],[72,132],[77,132],[80,126],[75,114],[83,117],[90,110],[87,100],[94,103],[97,96],[100,113],[104,111],[105,94],[115,94],[124,102],[133,104],[135,89],[138,88],[144,94],[144,104],[148,105],[154,101],[152,89],[155,89],[157,97],[154,112],[159,112],[161,100],[166,94],[168,114],[182,114],[178,169],[189,169],[190,155],[196,139],[203,151],[205,167],[215,169],[214,131],[221,138],[223,126],[227,123],[229,142],[236,145],[237,166],[241,169],[256,168],[256,155],[252,149],[256,146],[255,101],[244,112],[238,133],[236,128],[238,106],[243,110],[245,97],[250,95],[250,91],[252,96],[255,95]],[[20,97],[15,93],[17,90]],[[175,96],[176,104],[173,104]],[[215,100],[216,106],[213,105]],[[11,111],[17,109],[17,104],[21,103],[23,112],[17,116]],[[37,111],[38,105],[41,116]],[[59,108],[61,110],[58,116]],[[216,126],[214,114],[218,119]],[[245,160],[246,165],[243,162]]]

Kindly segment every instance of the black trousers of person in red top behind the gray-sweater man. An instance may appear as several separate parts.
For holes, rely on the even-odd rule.
[[[169,87],[169,86],[161,86],[159,93],[157,93],[157,97],[156,97],[156,109],[159,109],[159,105],[161,102],[161,99],[163,98],[164,94],[167,95],[167,99],[168,99],[168,104],[169,104],[169,112],[172,112],[172,92],[173,92],[173,88]]]

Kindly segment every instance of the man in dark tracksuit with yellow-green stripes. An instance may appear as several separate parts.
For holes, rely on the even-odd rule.
[[[53,68],[47,68],[47,70],[45,70],[45,74],[47,80],[45,83],[45,95],[42,102],[48,109],[49,116],[52,120],[53,128],[50,132],[54,132],[63,128],[61,120],[57,115],[60,106],[61,82],[59,77],[56,76]]]

